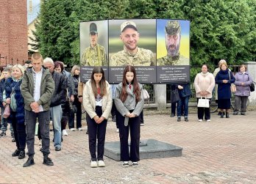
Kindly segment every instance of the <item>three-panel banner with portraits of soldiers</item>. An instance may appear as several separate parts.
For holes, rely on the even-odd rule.
[[[118,84],[126,65],[135,66],[141,84],[189,81],[189,29],[189,21],[171,19],[80,22],[81,81],[102,66]]]

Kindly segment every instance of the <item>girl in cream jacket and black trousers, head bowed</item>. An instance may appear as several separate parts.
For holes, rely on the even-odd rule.
[[[88,125],[90,167],[104,167],[104,142],[107,117],[112,108],[112,97],[110,84],[105,80],[102,67],[94,67],[90,80],[85,84],[82,99]],[[97,156],[96,139],[98,139]]]

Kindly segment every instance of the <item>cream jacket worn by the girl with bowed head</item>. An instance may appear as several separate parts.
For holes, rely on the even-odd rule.
[[[112,108],[112,97],[110,95],[110,84],[106,81],[107,84],[107,95],[104,95],[102,97],[102,117],[104,119],[107,119],[110,115],[110,111]],[[97,116],[95,109],[96,109],[96,100],[95,96],[93,95],[93,89],[90,84],[90,80],[86,82],[85,88],[83,90],[82,95],[82,103],[85,108],[85,111],[88,113],[90,118],[93,119],[93,117]]]

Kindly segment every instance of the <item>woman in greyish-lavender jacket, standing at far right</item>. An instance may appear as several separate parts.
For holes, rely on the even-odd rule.
[[[246,71],[246,65],[240,66],[240,72],[235,74],[235,109],[234,115],[238,115],[238,111],[241,108],[241,115],[246,114],[246,103],[250,95],[250,87],[252,84],[252,77]]]

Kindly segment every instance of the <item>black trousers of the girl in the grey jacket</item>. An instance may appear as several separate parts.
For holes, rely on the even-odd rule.
[[[116,111],[116,121],[119,125],[121,161],[140,161],[141,116],[129,118],[128,126],[124,126],[124,117]],[[128,146],[129,130],[130,149]]]

